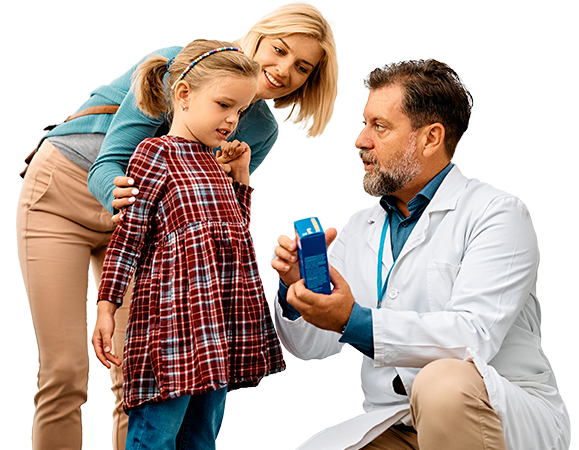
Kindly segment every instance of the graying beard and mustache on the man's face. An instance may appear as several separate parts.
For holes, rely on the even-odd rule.
[[[420,173],[420,163],[416,157],[416,136],[411,136],[405,152],[397,160],[392,161],[390,170],[381,167],[378,161],[366,150],[360,150],[373,165],[373,169],[364,174],[364,190],[372,197],[392,195],[410,183]]]

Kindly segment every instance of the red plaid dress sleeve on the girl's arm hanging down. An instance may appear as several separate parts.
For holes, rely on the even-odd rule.
[[[142,142],[129,161],[127,174],[139,180],[139,198],[124,209],[105,256],[98,299],[122,304],[141,250],[164,192],[167,169],[162,148]]]

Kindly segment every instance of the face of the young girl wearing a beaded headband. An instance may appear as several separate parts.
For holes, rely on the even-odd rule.
[[[177,104],[171,134],[219,147],[235,130],[239,115],[250,104],[257,90],[257,80],[247,77],[219,77],[199,91],[183,95],[176,86]],[[185,106],[185,110],[183,110]]]

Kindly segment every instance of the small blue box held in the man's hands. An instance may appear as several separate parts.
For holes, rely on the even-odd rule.
[[[295,227],[298,236],[300,274],[306,287],[318,294],[331,294],[326,235],[320,228],[318,219],[311,217],[298,220]]]

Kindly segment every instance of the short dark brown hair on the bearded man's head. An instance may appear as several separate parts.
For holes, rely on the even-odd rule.
[[[401,86],[403,112],[414,129],[440,123],[445,130],[445,148],[450,159],[468,128],[473,98],[462,79],[436,59],[404,60],[374,69],[364,79],[368,90]]]

